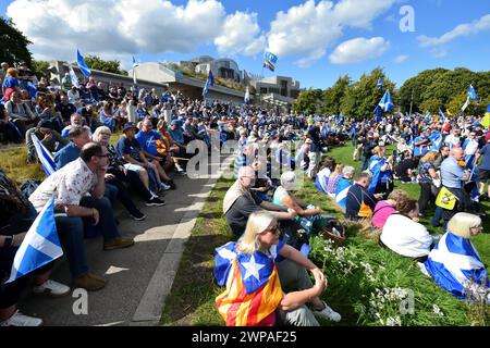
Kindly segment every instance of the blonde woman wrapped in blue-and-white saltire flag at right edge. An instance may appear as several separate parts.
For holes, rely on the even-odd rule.
[[[476,299],[483,295],[490,302],[490,282],[485,264],[470,238],[481,233],[481,219],[457,213],[448,223],[448,232],[430,251],[422,272],[443,289],[460,299]]]

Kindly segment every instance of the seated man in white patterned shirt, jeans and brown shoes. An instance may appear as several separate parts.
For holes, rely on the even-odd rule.
[[[133,238],[121,237],[111,203],[103,197],[108,157],[106,147],[86,144],[79,159],[48,176],[29,197],[40,212],[54,195],[56,224],[74,285],[87,290],[101,289],[106,281],[88,272],[84,221],[100,226],[103,250],[134,245]],[[90,196],[86,196],[88,192]]]

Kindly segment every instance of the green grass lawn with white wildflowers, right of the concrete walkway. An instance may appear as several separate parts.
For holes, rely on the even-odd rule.
[[[345,146],[328,154],[358,170],[360,163],[353,163],[352,150],[352,146]],[[222,200],[232,183],[224,178],[218,182],[198,217],[167,299],[162,325],[223,325],[215,309],[215,298],[223,289],[215,285],[213,250],[235,239],[222,216]],[[418,185],[396,187],[418,198]],[[342,219],[336,204],[316,190],[314,183],[307,181],[298,197],[322,208],[326,214]],[[430,225],[427,219],[422,223]],[[489,227],[487,221],[487,233],[475,239],[483,262],[490,260]],[[440,232],[431,227],[429,231]],[[334,248],[319,237],[311,238],[310,244],[310,258],[323,268],[329,281],[323,297],[343,316],[339,324],[322,322],[323,325],[488,325],[488,307],[483,308],[486,314],[481,314],[481,308],[455,299],[421,274],[412,260],[380,248],[376,240],[360,233],[359,225],[350,226],[342,248]],[[414,304],[413,311],[411,307],[403,311],[407,299]]]

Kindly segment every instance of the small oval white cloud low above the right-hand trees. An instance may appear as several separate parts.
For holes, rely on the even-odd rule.
[[[339,45],[330,54],[333,64],[355,64],[368,59],[381,57],[390,47],[382,37],[366,39],[358,37]]]

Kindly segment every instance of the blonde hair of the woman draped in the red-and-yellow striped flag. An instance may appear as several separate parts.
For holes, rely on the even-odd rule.
[[[259,236],[269,227],[274,220],[272,214],[266,210],[256,211],[248,216],[247,226],[243,237],[236,245],[236,250],[253,254],[260,248]]]

